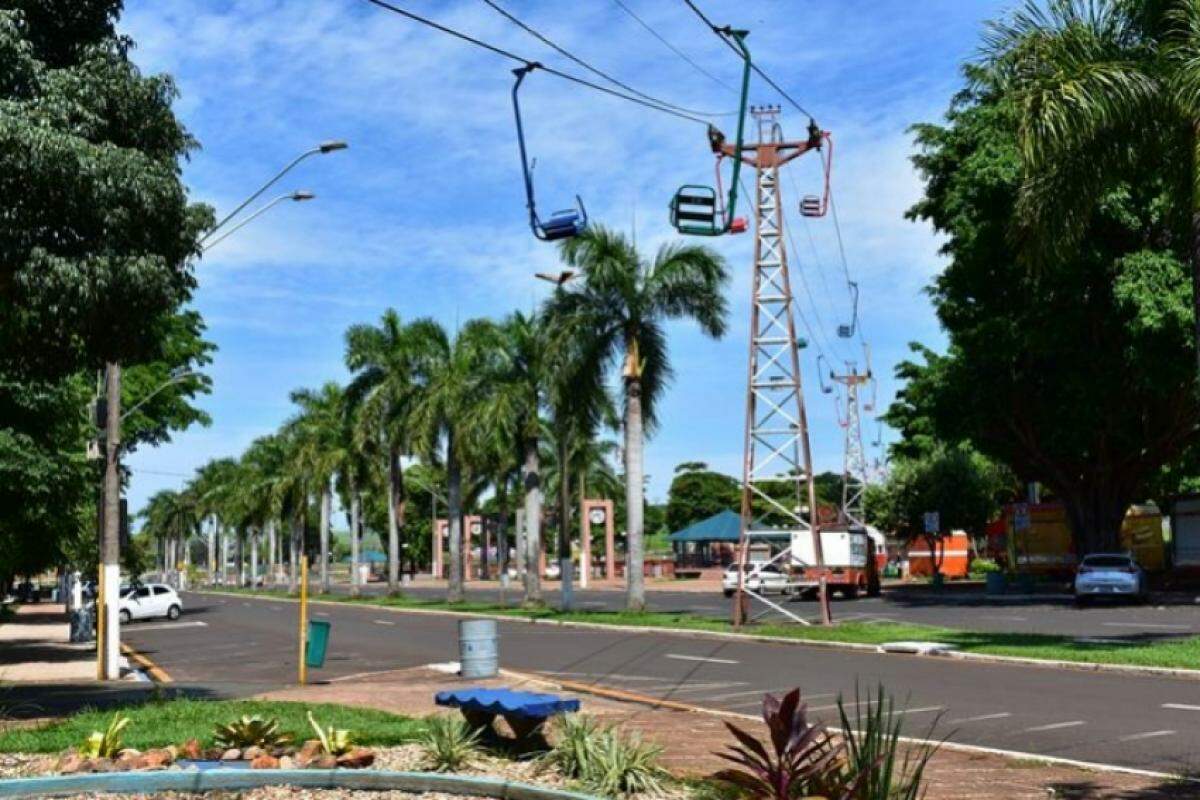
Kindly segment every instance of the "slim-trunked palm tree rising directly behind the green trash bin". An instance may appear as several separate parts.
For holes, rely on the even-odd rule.
[[[334,507],[334,479],[346,463],[344,396],[342,387],[328,381],[317,391],[301,389],[292,392],[292,402],[300,407],[295,417],[300,434],[300,458],[310,470],[308,483],[316,487],[320,513],[320,590],[329,593],[329,529]]]

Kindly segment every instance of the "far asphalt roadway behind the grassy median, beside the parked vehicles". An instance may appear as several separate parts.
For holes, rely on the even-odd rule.
[[[386,587],[368,584],[368,594],[384,594]],[[348,593],[346,585],[335,584],[335,591]],[[404,593],[414,597],[439,599],[445,589],[408,587]],[[499,589],[472,588],[469,600],[498,602]],[[506,591],[509,602],[520,600],[520,589]],[[625,596],[613,590],[576,590],[576,608],[583,610],[617,610],[624,607]],[[546,602],[558,606],[557,587],[545,593]],[[683,612],[703,616],[728,619],[730,602],[719,591],[646,593],[653,610]],[[779,601],[772,596],[772,601]],[[797,615],[816,621],[821,614],[812,600],[785,599],[785,607]],[[780,614],[758,606],[772,619]],[[1200,603],[1194,597],[1172,596],[1163,602],[1145,606],[1132,603],[1098,603],[1076,608],[1069,596],[1031,600],[1019,597],[986,597],[982,593],[947,593],[932,596],[914,591],[887,591],[882,597],[842,600],[834,597],[834,618],[840,621],[890,621],[941,625],[974,631],[1004,633],[1055,633],[1079,638],[1153,639],[1180,636],[1200,636]]]

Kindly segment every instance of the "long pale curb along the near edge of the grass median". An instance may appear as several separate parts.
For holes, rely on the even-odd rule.
[[[275,595],[241,594],[234,591],[199,591],[196,594],[220,595],[223,597],[241,597],[260,601],[299,602],[295,597],[280,597]],[[913,655],[900,652],[884,652],[877,644],[860,644],[857,642],[822,642],[820,639],[791,639],[779,636],[760,636],[755,633],[728,633],[722,631],[696,631],[685,627],[646,627],[640,625],[606,625],[604,622],[580,622],[575,620],[535,619],[524,616],[510,616],[506,614],[488,614],[485,612],[458,612],[436,608],[402,608],[397,606],[380,606],[367,602],[342,602],[337,600],[310,600],[312,604],[372,608],[377,610],[392,612],[396,614],[433,614],[440,616],[458,616],[463,619],[492,619],[502,622],[524,622],[529,625],[552,625],[559,627],[574,627],[592,631],[618,631],[622,633],[668,633],[671,636],[686,637],[694,639],[709,639],[719,642],[757,642],[761,644],[786,644],[804,648],[824,648],[827,650],[851,650],[857,652],[874,652],[888,657],[908,658],[949,658],[955,661],[971,661],[977,663],[1003,663],[1010,666],[1038,667],[1042,669],[1074,669],[1076,672],[1115,673],[1121,675],[1141,674],[1156,678],[1177,678],[1181,680],[1200,681],[1200,669],[1182,669],[1178,667],[1142,667],[1138,664],[1108,664],[1097,661],[1063,661],[1056,658],[1028,658],[1025,656],[1003,656],[988,652],[962,652],[950,650],[941,654]]]

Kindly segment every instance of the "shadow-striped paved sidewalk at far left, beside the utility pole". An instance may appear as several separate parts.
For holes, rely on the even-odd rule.
[[[96,680],[96,645],[71,644],[61,603],[17,607],[10,622],[0,622],[0,682]]]

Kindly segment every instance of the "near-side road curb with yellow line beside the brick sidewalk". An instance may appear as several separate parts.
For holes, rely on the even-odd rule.
[[[512,669],[500,669],[500,674],[518,680],[528,680],[533,682],[545,684],[547,686],[557,686],[562,690],[576,692],[580,694],[594,694],[595,697],[604,697],[606,699],[620,700],[625,703],[637,703],[640,705],[647,705],[650,708],[666,708],[677,711],[703,714],[708,716],[725,717],[730,720],[739,720],[745,722],[762,722],[762,717],[754,714],[726,711],[725,709],[708,709],[701,705],[680,703],[679,700],[656,698],[656,697],[650,697],[649,694],[638,694],[636,692],[626,692],[622,690],[612,690],[606,686],[582,684],[574,680],[560,680],[558,678],[538,675],[535,673],[516,672]],[[1181,775],[1171,775],[1170,772],[1156,772],[1153,770],[1141,770],[1134,766],[1121,766],[1118,764],[1081,762],[1081,760],[1075,760],[1073,758],[1061,758],[1058,756],[1043,756],[1040,753],[1028,753],[1018,750],[1001,750],[998,747],[985,747],[983,745],[964,745],[954,741],[947,741],[944,739],[922,739],[919,736],[899,736],[899,740],[910,745],[937,745],[938,748],[961,752],[961,753],[1000,756],[1001,758],[1032,760],[1039,764],[1073,766],[1075,769],[1088,770],[1093,772],[1120,772],[1123,775],[1136,775],[1139,777],[1150,777],[1159,781],[1178,781],[1178,782],[1200,784],[1200,778],[1187,777]]]

